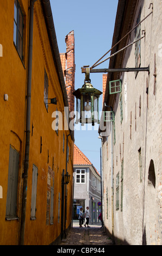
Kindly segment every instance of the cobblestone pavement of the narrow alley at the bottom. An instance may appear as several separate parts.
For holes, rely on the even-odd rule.
[[[90,228],[83,225],[83,228],[79,228],[78,224],[74,223],[60,245],[113,245],[113,241],[104,233],[101,224],[90,225]]]

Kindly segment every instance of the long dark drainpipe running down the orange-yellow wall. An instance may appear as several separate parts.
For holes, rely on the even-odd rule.
[[[30,147],[30,108],[31,108],[31,90],[32,90],[32,54],[33,54],[33,17],[34,3],[37,0],[30,0],[30,17],[29,17],[29,50],[28,50],[28,81],[27,81],[27,115],[26,115],[26,150],[24,156],[23,192],[22,192],[22,212],[20,227],[20,245],[24,244],[24,231],[26,222],[26,205],[27,205],[27,185],[28,185],[28,168],[29,168],[29,147]]]

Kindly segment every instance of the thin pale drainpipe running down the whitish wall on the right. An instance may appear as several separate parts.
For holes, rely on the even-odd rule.
[[[113,112],[113,107],[107,106]],[[112,220],[112,233],[114,236],[114,194],[113,194],[113,116],[111,116],[111,220]]]

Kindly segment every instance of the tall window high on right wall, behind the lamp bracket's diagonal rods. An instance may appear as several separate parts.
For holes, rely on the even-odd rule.
[[[139,11],[138,19],[136,20],[136,25],[141,20],[141,9]],[[135,28],[135,40],[139,39],[141,36],[141,25]],[[135,68],[139,68],[141,65],[141,40],[137,41],[135,43]],[[135,72],[135,75],[137,75],[138,72]]]

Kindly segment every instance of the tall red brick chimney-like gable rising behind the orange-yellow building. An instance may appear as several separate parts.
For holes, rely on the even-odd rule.
[[[63,67],[65,86],[68,97],[68,106],[70,112],[74,111],[74,83],[75,83],[75,56],[74,56],[74,31],[71,31],[65,37],[66,53],[60,53],[61,63]]]

